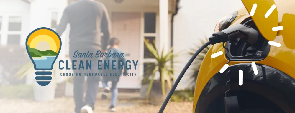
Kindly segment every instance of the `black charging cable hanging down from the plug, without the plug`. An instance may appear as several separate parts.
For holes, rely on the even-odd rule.
[[[207,43],[205,43],[204,45],[201,46],[201,48],[199,48],[196,53],[191,57],[191,59],[189,60],[189,62],[184,66],[183,70],[180,72],[179,76],[177,77],[177,79],[175,80],[170,92],[168,93],[165,101],[163,102],[159,113],[163,113],[166,105],[168,104],[173,92],[175,91],[178,83],[180,82],[181,78],[183,77],[184,73],[186,72],[186,70],[189,68],[189,66],[191,65],[191,63],[193,63],[193,61],[195,60],[195,58],[201,53],[201,51],[206,48],[208,45],[212,44],[212,41],[208,41]],[[212,44],[213,45],[213,44]]]

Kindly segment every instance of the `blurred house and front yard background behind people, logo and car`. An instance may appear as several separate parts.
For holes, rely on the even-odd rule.
[[[76,0],[0,0],[0,111],[6,113],[73,113],[72,77],[60,73],[72,70],[53,69],[53,82],[45,87],[36,84],[35,70],[27,55],[28,34],[40,27],[55,30],[63,10]],[[243,4],[239,0],[97,0],[103,3],[112,22],[111,37],[121,41],[120,49],[129,54],[127,60],[138,60],[136,76],[121,77],[118,83],[117,112],[158,112],[164,99],[160,78],[167,82],[175,78],[207,37],[212,35],[217,21]],[[69,27],[61,36],[59,60],[70,60]],[[152,46],[150,46],[152,45]],[[158,53],[175,54],[173,59],[154,58]],[[172,51],[169,49],[172,48]],[[192,100],[199,65],[206,54],[199,55],[183,76],[177,91],[164,112],[192,112]],[[203,56],[203,57],[202,57]],[[169,63],[167,74],[155,70]],[[56,62],[55,65],[58,65]],[[69,64],[70,65],[70,64]],[[153,73],[155,70],[155,73]],[[155,76],[153,76],[155,75]],[[149,87],[150,80],[155,80]],[[163,84],[163,83],[162,83]],[[100,84],[99,87],[102,87]],[[169,85],[166,89],[169,91]],[[148,90],[152,88],[147,99]],[[161,88],[160,88],[161,90]],[[160,92],[160,93],[159,93]],[[167,94],[166,93],[166,94]],[[101,99],[99,91],[94,112],[107,112],[109,99]]]

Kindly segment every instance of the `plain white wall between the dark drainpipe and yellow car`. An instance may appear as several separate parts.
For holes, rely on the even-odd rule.
[[[181,9],[174,18],[173,51],[183,51],[186,55],[178,58],[182,63],[178,65],[180,68],[176,69],[179,72],[175,73],[175,77],[178,77],[182,68],[191,58],[187,54],[187,50],[199,44],[200,39],[212,36],[220,18],[243,7],[241,0],[181,0],[179,5]],[[182,87],[187,87],[188,81],[191,81],[189,80],[190,72],[191,70],[188,69],[183,76],[180,82]]]

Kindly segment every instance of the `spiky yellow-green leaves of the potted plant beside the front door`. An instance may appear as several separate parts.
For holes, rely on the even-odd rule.
[[[145,77],[144,80],[145,82],[149,82],[149,87],[148,87],[148,94],[147,94],[147,99],[149,99],[149,94],[153,86],[154,78],[155,78],[155,73],[159,72],[160,73],[160,78],[159,80],[161,81],[162,85],[162,94],[165,95],[165,84],[167,80],[167,85],[171,89],[172,83],[171,80],[175,81],[175,77],[173,75],[174,69],[172,68],[171,65],[167,65],[168,62],[172,62],[173,64],[173,58],[179,56],[179,53],[173,54],[172,50],[173,48],[171,47],[170,50],[164,54],[164,49],[158,54],[158,50],[156,47],[154,47],[151,43],[145,40],[145,45],[150,51],[151,55],[153,58],[156,59],[155,65],[148,65],[147,70],[145,73],[147,75],[151,75],[151,78]],[[165,79],[166,77],[166,79]]]

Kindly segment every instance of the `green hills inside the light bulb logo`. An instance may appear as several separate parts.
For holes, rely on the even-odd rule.
[[[40,51],[35,48],[30,48],[28,45],[28,50],[30,52],[30,55],[32,57],[42,57],[42,56],[56,56],[58,53],[52,51],[52,50],[46,50],[46,51]]]

